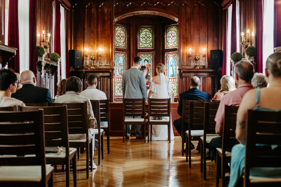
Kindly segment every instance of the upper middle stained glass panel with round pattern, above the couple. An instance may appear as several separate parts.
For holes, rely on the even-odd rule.
[[[139,27],[138,30],[138,48],[154,49],[154,29],[152,26]]]

